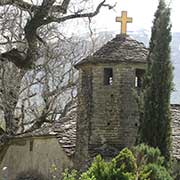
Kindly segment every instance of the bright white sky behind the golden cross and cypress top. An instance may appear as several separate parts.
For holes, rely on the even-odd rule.
[[[25,0],[32,1],[32,0]],[[41,2],[42,0],[33,0],[34,2]],[[61,0],[59,0],[61,1]],[[121,11],[128,11],[128,17],[133,18],[133,23],[128,23],[128,31],[137,31],[140,29],[151,30],[152,21],[154,19],[154,13],[157,9],[159,0],[106,0],[109,4],[117,4],[115,9],[108,10],[102,8],[101,12],[92,20],[91,28],[97,29],[96,31],[115,31],[120,32],[120,23],[115,22],[116,16],[121,16]],[[74,0],[72,2],[80,3],[80,0]],[[94,4],[94,8],[102,2],[102,0],[89,0],[90,4]],[[166,0],[167,4],[171,7],[171,21],[172,31],[180,32],[179,17],[180,17],[180,0]],[[171,3],[170,3],[171,2]],[[80,4],[76,3],[76,6]],[[84,27],[82,21],[67,21],[65,24],[67,28],[65,34],[83,34],[87,32],[87,26]]]

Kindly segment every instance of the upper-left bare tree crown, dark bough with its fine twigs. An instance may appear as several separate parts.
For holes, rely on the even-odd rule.
[[[78,1],[78,8],[73,11],[70,8],[70,3],[73,3],[72,0],[1,0],[0,7],[4,7],[1,13],[1,24],[3,25],[1,32],[4,40],[2,44],[19,44],[21,42],[23,47],[23,50],[17,45],[10,48],[1,54],[1,60],[11,61],[21,69],[32,68],[39,59],[39,43],[45,43],[39,33],[42,28],[52,23],[63,23],[70,19],[92,18],[99,13],[103,6],[112,8],[105,3],[106,0],[103,0],[94,11],[85,12],[83,3],[87,2],[87,0]],[[7,18],[7,14],[11,15]],[[19,19],[17,20],[17,18]]]

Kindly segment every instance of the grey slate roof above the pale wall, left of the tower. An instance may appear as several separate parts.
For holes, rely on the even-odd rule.
[[[75,152],[76,117],[76,111],[73,110],[59,121],[51,124],[45,123],[41,128],[32,132],[18,134],[15,138],[55,136],[63,150],[68,156],[71,156]]]

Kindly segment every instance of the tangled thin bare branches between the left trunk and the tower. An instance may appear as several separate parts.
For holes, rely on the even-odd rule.
[[[77,72],[73,64],[83,55],[77,53],[79,43],[62,42],[61,39],[51,44],[50,49],[43,50],[46,54],[39,60],[37,68],[24,76],[18,104],[19,132],[25,125],[28,127],[26,132],[33,131],[43,123],[64,117],[74,104]]]

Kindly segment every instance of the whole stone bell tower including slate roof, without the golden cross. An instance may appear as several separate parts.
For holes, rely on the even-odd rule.
[[[79,167],[97,154],[108,159],[134,144],[139,114],[133,91],[141,88],[147,53],[142,43],[121,34],[76,64]]]

